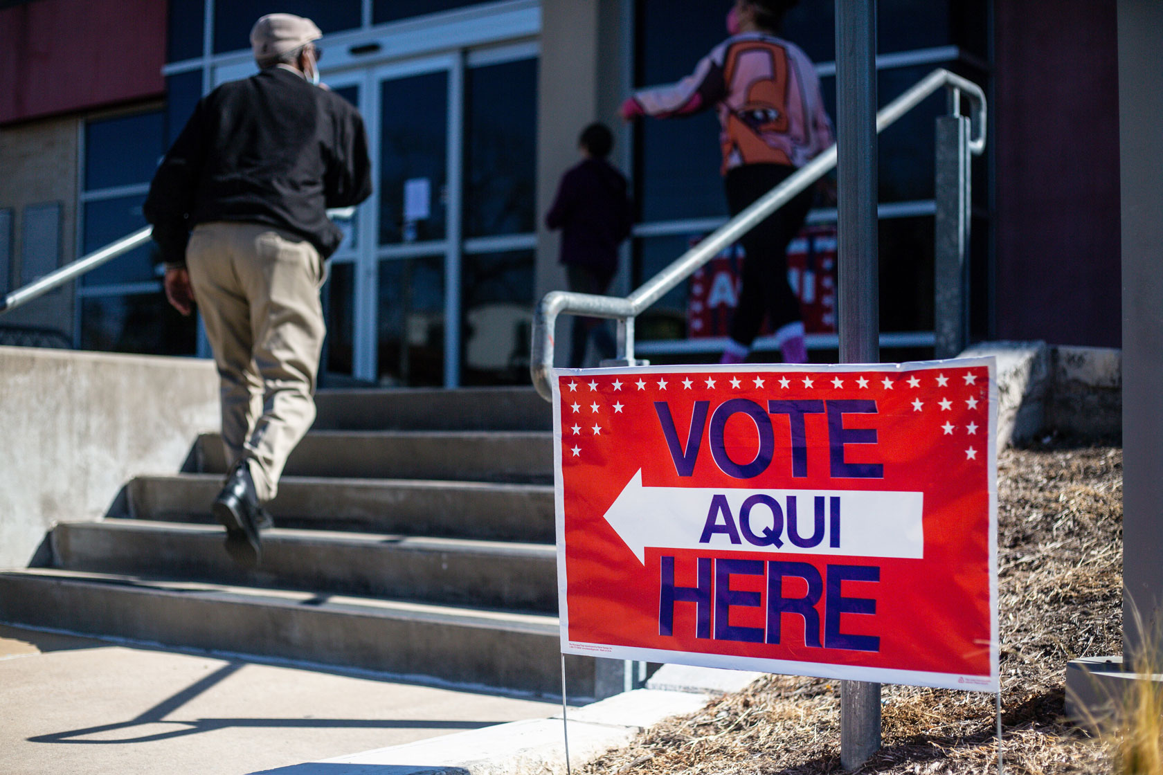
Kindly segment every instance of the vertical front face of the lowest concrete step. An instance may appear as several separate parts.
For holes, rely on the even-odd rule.
[[[0,622],[561,694],[556,632],[512,632],[7,575],[0,575]],[[571,695],[592,696],[594,661],[570,656],[566,669]]]

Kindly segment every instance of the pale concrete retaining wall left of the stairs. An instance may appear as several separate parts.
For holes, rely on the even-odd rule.
[[[174,473],[219,426],[207,360],[0,347],[0,568],[60,521],[101,518],[140,474]]]

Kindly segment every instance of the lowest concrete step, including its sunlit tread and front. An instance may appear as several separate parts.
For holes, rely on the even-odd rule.
[[[550,615],[33,568],[0,572],[0,622],[561,696]],[[597,696],[598,660],[565,665]]]

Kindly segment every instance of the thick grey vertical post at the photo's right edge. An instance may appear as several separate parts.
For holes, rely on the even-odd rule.
[[[1119,0],[1123,663],[1163,656],[1163,3]],[[1137,658],[1137,659],[1136,659]],[[1156,669],[1158,669],[1156,667]]]

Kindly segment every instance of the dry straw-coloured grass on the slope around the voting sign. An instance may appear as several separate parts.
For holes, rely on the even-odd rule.
[[[1061,442],[1007,450],[998,483],[1006,772],[1111,772],[1112,747],[1075,731],[1062,713],[1066,661],[1122,650],[1122,451]],[[883,748],[862,772],[997,772],[993,695],[886,686],[883,696]],[[580,772],[842,772],[839,686],[765,676]]]

